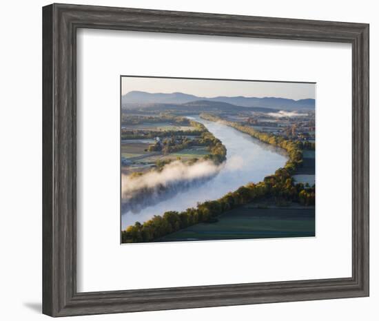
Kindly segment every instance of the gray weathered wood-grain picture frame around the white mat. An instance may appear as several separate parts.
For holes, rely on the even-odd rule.
[[[352,276],[76,292],[76,30],[98,28],[352,44]],[[43,313],[119,313],[369,296],[369,25],[52,4],[43,7]]]

